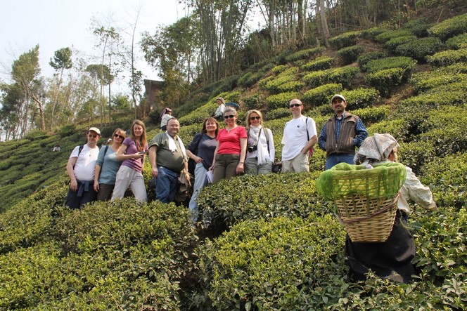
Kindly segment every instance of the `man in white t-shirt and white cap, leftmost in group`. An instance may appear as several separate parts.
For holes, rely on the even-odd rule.
[[[97,197],[94,190],[94,168],[99,154],[97,142],[101,138],[101,131],[91,127],[86,135],[87,144],[76,146],[68,159],[67,173],[71,183],[65,205],[70,209],[80,209]]]

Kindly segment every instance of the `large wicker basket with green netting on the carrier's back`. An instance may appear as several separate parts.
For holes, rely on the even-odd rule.
[[[332,199],[353,242],[383,242],[392,231],[405,166],[385,164],[371,169],[338,164],[316,180],[316,189]]]

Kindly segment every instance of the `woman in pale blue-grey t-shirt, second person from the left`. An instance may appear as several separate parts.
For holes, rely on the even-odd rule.
[[[98,201],[107,201],[112,197],[115,176],[122,165],[122,161],[117,160],[117,152],[124,139],[125,132],[122,128],[117,128],[113,131],[112,138],[108,140],[110,143],[99,150],[94,173],[94,190],[97,192]]]

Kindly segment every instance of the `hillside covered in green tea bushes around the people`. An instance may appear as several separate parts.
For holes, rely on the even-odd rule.
[[[0,144],[1,200],[17,202],[0,214],[0,309],[463,310],[466,32],[466,14],[437,25],[417,20],[349,32],[331,39],[331,49],[290,53],[206,88],[209,100],[179,110],[189,142],[217,96],[241,103],[239,119],[260,108],[281,154],[291,98],[302,98],[319,130],[331,96],[343,93],[370,134],[397,138],[399,161],[437,201],[437,213],[411,205],[418,282],[350,279],[345,231],[314,186],[322,150],[310,159],[310,173],[241,176],[205,188],[199,204],[212,225],[199,230],[174,204],[124,199],[66,209],[64,166],[84,129],[64,129],[60,155],[50,152],[57,136],[46,133]]]

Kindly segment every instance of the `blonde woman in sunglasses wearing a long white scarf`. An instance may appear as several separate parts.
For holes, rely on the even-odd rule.
[[[245,159],[245,173],[257,175],[271,173],[276,150],[269,128],[262,126],[262,113],[250,110],[246,114],[248,147]]]

